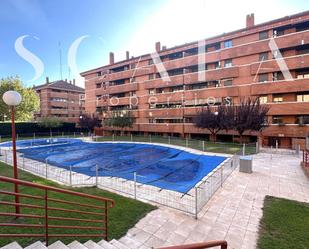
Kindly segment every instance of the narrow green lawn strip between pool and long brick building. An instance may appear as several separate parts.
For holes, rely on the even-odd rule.
[[[196,150],[203,150],[207,152],[214,153],[228,153],[228,154],[241,154],[242,153],[242,144],[237,143],[213,143],[210,141],[204,141],[205,147],[203,148],[203,141],[197,139],[189,139],[186,141],[185,139],[163,136],[104,136],[99,137],[97,141],[134,141],[134,142],[153,142],[153,143],[164,143],[164,144],[172,144],[179,145],[183,147],[189,147]],[[246,154],[254,154],[255,153],[255,145],[247,145],[246,146]]]

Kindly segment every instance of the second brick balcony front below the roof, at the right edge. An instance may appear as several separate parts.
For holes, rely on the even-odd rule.
[[[309,54],[304,55],[296,55],[291,57],[285,57],[283,60],[289,70],[294,70],[298,68],[309,67]],[[268,60],[254,63],[250,66],[250,71],[252,75],[256,75],[257,73],[270,73],[280,71],[280,67],[276,60]]]

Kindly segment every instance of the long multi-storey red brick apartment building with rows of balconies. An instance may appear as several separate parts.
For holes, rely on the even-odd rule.
[[[272,52],[273,41],[279,51]],[[126,60],[115,62],[110,53],[108,65],[81,73],[86,112],[105,119],[113,111],[130,111],[135,124],[128,132],[205,137],[208,132],[196,128],[192,117],[209,99],[215,105],[237,105],[242,98],[258,97],[270,106],[270,125],[262,134],[247,132],[248,140],[259,136],[264,146],[275,141],[280,147],[304,144],[309,133],[309,11],[258,25],[251,14],[246,28],[206,39],[204,53],[199,53],[198,44],[166,48],[156,43],[170,81],[158,71],[151,54],[130,58],[127,52]],[[292,79],[275,59],[279,55]],[[205,62],[202,72],[199,57]],[[237,138],[234,131],[220,134],[219,139]]]

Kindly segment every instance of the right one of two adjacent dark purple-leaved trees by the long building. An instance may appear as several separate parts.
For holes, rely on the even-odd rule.
[[[269,107],[261,105],[258,98],[243,99],[240,105],[233,106],[229,110],[229,112],[233,112],[230,114],[233,117],[232,127],[238,132],[241,141],[245,131],[261,131],[266,127],[265,120],[268,110]]]

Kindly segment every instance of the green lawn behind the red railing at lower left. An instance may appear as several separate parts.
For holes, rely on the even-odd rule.
[[[7,166],[3,163],[0,163],[0,175],[2,176],[10,176],[12,177],[12,167]],[[113,238],[120,238],[123,236],[128,229],[133,227],[138,220],[140,220],[142,217],[144,217],[148,212],[151,210],[154,210],[156,207],[151,206],[149,204],[145,204],[133,199],[125,198],[122,196],[119,196],[117,194],[113,194],[101,189],[97,189],[95,187],[84,187],[84,188],[69,188],[69,187],[63,187],[56,183],[47,181],[43,178],[34,176],[32,174],[29,174],[27,172],[19,171],[19,178],[26,181],[36,182],[40,184],[46,184],[51,186],[56,186],[60,188],[70,189],[77,192],[97,195],[97,196],[103,196],[107,198],[111,198],[115,200],[116,206],[112,209],[109,209],[109,239]],[[12,190],[12,184],[3,183],[0,182],[0,189],[7,189]],[[20,187],[20,192],[27,193],[27,194],[34,194],[34,195],[42,195],[43,192],[41,190],[35,190],[28,187]],[[68,200],[70,198],[70,201],[75,202],[82,202],[82,203],[88,203],[88,204],[98,204],[96,200],[86,200],[81,197],[72,197],[61,193],[52,193],[50,195],[51,198],[57,198],[62,200]],[[0,194],[0,200],[1,201],[13,201],[12,197],[4,196]],[[34,205],[43,205],[42,200],[33,200],[29,198],[22,198],[22,203],[29,203]],[[62,203],[54,203],[52,204],[53,207],[61,207],[61,208],[71,208],[72,205],[68,206],[68,204],[62,204]],[[84,210],[84,211],[92,211],[92,212],[100,212],[100,210],[93,210],[93,208],[88,207],[73,207],[75,209]],[[0,212],[13,212],[14,207],[4,206],[0,204]],[[22,208],[23,213],[31,213],[31,214],[43,214],[42,210],[40,209],[29,209],[29,208]],[[103,212],[103,211],[101,211]],[[62,216],[62,217],[75,217],[75,218],[88,218],[88,219],[97,219],[98,216],[94,215],[85,215],[85,214],[75,214],[70,212],[63,212],[63,211],[50,211],[50,216]],[[0,223],[3,222],[12,222],[12,217],[4,217],[0,216]],[[34,218],[22,218],[19,222],[22,223],[41,223],[44,224],[44,220],[40,219],[34,219]],[[60,224],[59,221],[50,221],[50,224]],[[99,224],[87,224],[87,222],[61,222],[61,225],[82,225],[82,226],[98,226]],[[8,227],[1,227],[0,226],[0,233],[43,233],[44,230],[42,228],[27,228],[27,229],[17,229],[17,228],[8,228]],[[77,233],[81,232],[80,230],[74,230],[74,229],[65,229],[65,231],[61,231],[59,229],[52,229],[49,231],[50,233]],[[89,234],[89,233],[98,233],[98,231],[93,230],[82,230],[83,233]],[[65,243],[69,243],[70,241],[75,240],[76,238],[62,238],[61,240]],[[84,238],[79,239],[79,241],[87,241],[90,238]],[[7,238],[0,238],[0,247],[9,243],[10,241],[18,241],[22,246],[26,246],[30,244],[31,242],[36,241],[36,238],[14,238],[14,239],[7,239]],[[50,243],[58,240],[57,238],[54,240],[50,240]],[[95,241],[101,240],[101,238],[94,239]]]

